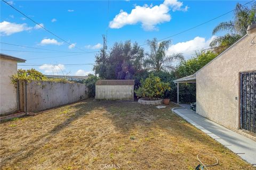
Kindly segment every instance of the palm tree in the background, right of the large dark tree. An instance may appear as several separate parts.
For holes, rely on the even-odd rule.
[[[148,70],[156,72],[173,70],[174,66],[172,63],[174,61],[184,60],[181,53],[173,55],[166,54],[166,50],[169,48],[170,43],[170,40],[158,43],[156,38],[147,41],[147,44],[150,47],[150,53],[146,53],[147,58],[144,61],[144,65]]]

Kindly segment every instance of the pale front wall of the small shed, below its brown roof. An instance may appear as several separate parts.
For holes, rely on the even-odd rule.
[[[96,86],[95,100],[133,100],[134,86]]]

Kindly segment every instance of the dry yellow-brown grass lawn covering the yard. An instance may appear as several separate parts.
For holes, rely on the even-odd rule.
[[[172,107],[90,99],[2,122],[1,169],[195,169],[200,152],[219,159],[209,169],[254,169]]]

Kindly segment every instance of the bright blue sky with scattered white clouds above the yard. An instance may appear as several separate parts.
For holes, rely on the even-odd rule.
[[[1,43],[63,51],[1,44],[1,53],[23,58],[27,60],[25,64],[33,65],[18,68],[35,68],[45,74],[85,75],[92,71],[92,65],[66,64],[94,63],[93,52],[102,46],[102,34],[108,32],[108,47],[116,41],[129,39],[141,45],[147,39],[162,39],[231,11],[238,2],[245,4],[249,1],[9,1],[31,19],[73,44],[69,47],[1,1]],[[181,52],[186,58],[191,57],[195,50],[209,46],[215,25],[232,17],[233,13],[229,13],[172,37],[167,53]],[[148,50],[147,46],[143,47]]]

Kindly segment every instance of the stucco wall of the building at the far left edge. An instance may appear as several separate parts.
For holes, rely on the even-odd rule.
[[[10,77],[17,73],[17,61],[0,58],[0,115],[17,111],[17,90]]]

